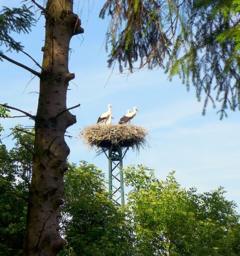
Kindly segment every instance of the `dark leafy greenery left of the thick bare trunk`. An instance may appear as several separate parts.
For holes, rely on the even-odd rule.
[[[22,255],[34,135],[17,126],[11,150],[0,145],[0,255]],[[27,132],[27,134],[25,133]]]

